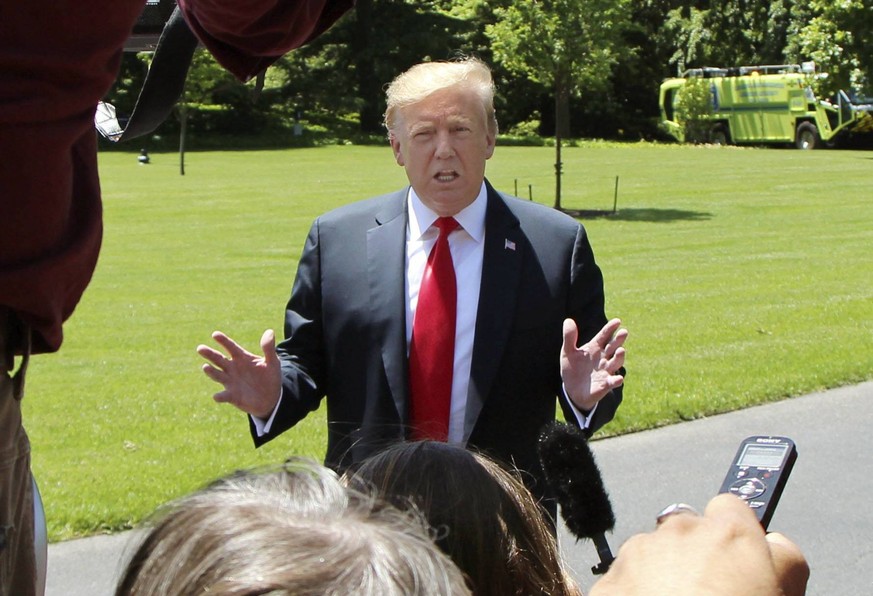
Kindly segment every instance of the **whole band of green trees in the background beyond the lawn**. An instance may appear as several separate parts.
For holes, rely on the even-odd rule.
[[[540,121],[547,135],[652,138],[658,85],[691,67],[814,60],[829,75],[822,93],[873,95],[873,0],[358,0],[255,84],[198,52],[185,96],[191,130],[284,134],[302,117],[335,137],[381,136],[385,85],[457,54],[492,66],[504,131]],[[149,59],[125,56],[108,98],[121,112]]]

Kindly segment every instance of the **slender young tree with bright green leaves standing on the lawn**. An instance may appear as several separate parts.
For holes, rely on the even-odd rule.
[[[603,90],[624,53],[628,0],[518,0],[486,26],[494,59],[555,94],[555,208],[561,208],[561,139],[569,136],[570,99]]]

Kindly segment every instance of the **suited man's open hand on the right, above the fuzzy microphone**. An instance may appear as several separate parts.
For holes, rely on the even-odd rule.
[[[607,393],[620,387],[624,377],[624,342],[627,329],[612,319],[591,341],[577,347],[579,328],[573,319],[564,319],[564,345],[561,346],[561,379],[577,408],[588,411]]]

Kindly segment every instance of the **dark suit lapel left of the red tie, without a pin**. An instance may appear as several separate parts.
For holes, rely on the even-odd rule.
[[[389,195],[367,231],[367,279],[376,341],[400,420],[406,420],[406,195]]]

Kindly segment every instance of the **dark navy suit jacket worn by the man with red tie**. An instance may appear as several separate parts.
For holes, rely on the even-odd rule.
[[[406,438],[407,189],[319,217],[300,258],[278,347],[282,404],[260,445],[327,397],[326,464],[343,469]],[[509,242],[507,242],[509,241]],[[514,243],[514,248],[513,244]],[[536,443],[562,395],[562,322],[587,341],[606,322],[603,280],[584,228],[488,185],[485,253],[467,396],[467,445],[512,463],[543,496]],[[612,419],[604,398],[592,432]],[[575,420],[560,397],[568,420]]]

